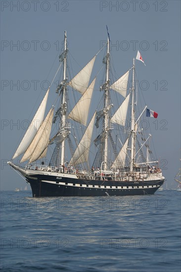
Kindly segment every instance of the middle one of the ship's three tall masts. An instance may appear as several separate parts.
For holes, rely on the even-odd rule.
[[[104,108],[107,108],[109,105],[109,37],[107,39],[107,55],[106,55],[106,82],[104,88]],[[108,112],[104,116],[103,121],[103,130],[105,132],[105,139],[104,139],[104,150],[103,150],[103,170],[106,170],[107,166],[107,156],[108,156],[108,130],[109,130],[109,116]]]

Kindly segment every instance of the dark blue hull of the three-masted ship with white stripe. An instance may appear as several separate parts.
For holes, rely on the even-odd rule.
[[[54,196],[124,196],[154,194],[163,184],[158,181],[100,181],[37,175],[27,177],[33,197]],[[58,180],[57,180],[58,179]]]

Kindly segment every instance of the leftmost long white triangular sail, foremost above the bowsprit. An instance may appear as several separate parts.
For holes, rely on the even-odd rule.
[[[46,91],[45,97],[42,100],[42,103],[40,104],[40,107],[38,108],[38,110],[37,110],[32,122],[31,122],[29,128],[27,129],[21,143],[19,144],[19,146],[13,156],[13,159],[15,159],[16,157],[18,157],[19,155],[23,154],[26,151],[26,149],[28,148],[28,146],[32,142],[33,138],[37,134],[37,131],[39,130],[41,123],[44,120],[48,92],[49,92],[49,88]]]

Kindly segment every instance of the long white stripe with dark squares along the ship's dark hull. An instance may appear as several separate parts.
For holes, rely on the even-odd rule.
[[[73,183],[67,183],[65,184],[65,182],[60,182],[60,181],[56,181],[58,183],[56,183],[55,181],[43,181],[46,183],[51,183],[54,185],[64,185],[64,186],[74,186],[74,187],[87,187],[87,188],[98,188],[98,189],[142,189],[142,188],[156,188],[156,187],[160,187],[160,185],[146,185],[146,186],[102,186],[102,185],[88,185],[87,184],[82,184],[82,186],[80,186],[79,183],[75,183],[75,185]]]

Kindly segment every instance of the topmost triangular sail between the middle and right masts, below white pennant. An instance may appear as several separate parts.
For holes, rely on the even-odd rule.
[[[124,97],[126,97],[129,72],[130,70],[110,86],[111,89],[121,93]]]

